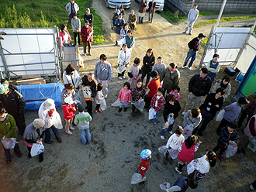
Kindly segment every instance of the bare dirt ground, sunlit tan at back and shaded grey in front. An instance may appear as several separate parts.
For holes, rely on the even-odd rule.
[[[109,85],[109,97],[106,99],[108,108],[101,114],[93,115],[90,124],[92,143],[84,146],[80,142],[78,128],[75,127],[73,135],[67,135],[64,129],[60,131],[62,143],[54,139],[54,144],[45,144],[45,159],[39,163],[36,157],[29,159],[26,146],[19,140],[19,146],[23,156],[17,158],[12,152],[12,163],[5,163],[3,150],[0,149],[0,191],[161,191],[159,184],[169,182],[175,183],[178,177],[175,166],[164,165],[163,155],[158,153],[157,148],[166,144],[160,139],[161,128],[164,119],[161,115],[157,125],[147,122],[148,113],[144,110],[140,117],[132,118],[131,106],[126,112],[117,112],[117,108],[110,105],[116,101],[119,90],[123,83],[117,78],[117,54],[119,47],[113,46],[115,33],[110,29],[110,22],[114,9],[106,9],[105,2],[94,1],[92,6],[104,20],[103,27],[106,29],[106,40],[112,43],[93,45],[92,56],[84,57],[85,69],[83,74],[92,72],[95,63],[99,60],[99,55],[105,53],[109,63],[112,64],[112,81]],[[132,3],[132,9],[136,12],[139,6]],[[126,10],[125,19],[131,9]],[[155,57],[164,58],[164,63],[178,63],[178,70],[181,72],[181,98],[182,109],[185,107],[188,95],[189,79],[198,74],[201,54],[195,60],[192,70],[181,68],[188,51],[187,43],[199,33],[209,34],[211,26],[202,26],[194,29],[192,36],[182,34],[186,22],[178,25],[171,25],[160,15],[156,14],[153,23],[147,23],[147,16],[143,25],[137,25],[137,32],[133,35],[136,38],[136,46],[133,49],[131,62],[135,57],[142,59],[146,50],[152,48]],[[216,19],[217,15],[211,16]],[[209,19],[210,17],[199,18],[196,23]],[[253,23],[254,20],[239,22],[220,23],[220,26],[233,26],[244,23]],[[202,52],[202,50],[201,50]],[[221,53],[220,53],[221,57]],[[223,69],[218,74],[218,78],[223,77]],[[238,83],[231,77],[232,91],[230,96],[238,87]],[[231,98],[231,97],[230,97]],[[58,110],[63,115],[62,109]],[[33,122],[37,118],[36,111],[26,111],[26,124]],[[180,112],[175,125],[182,123],[182,111]],[[205,134],[202,136],[202,145],[195,153],[196,157],[201,157],[207,150],[216,146],[218,139],[215,130],[219,122],[210,122]],[[64,122],[63,122],[64,125]],[[239,132],[239,138],[242,132]],[[2,148],[2,146],[0,147]],[[140,163],[140,152],[143,149],[151,149],[152,160],[147,171],[147,183],[144,186],[130,185],[130,177],[138,171]],[[246,155],[236,154],[230,159],[224,159],[199,181],[199,187],[194,191],[249,191],[249,183],[255,179],[255,154],[247,149]],[[185,169],[182,175],[186,175]],[[188,190],[192,191],[192,190]]]

